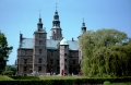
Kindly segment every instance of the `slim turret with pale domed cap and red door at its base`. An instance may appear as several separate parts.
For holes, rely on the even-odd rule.
[[[60,41],[60,75],[69,73],[69,44],[63,38]]]

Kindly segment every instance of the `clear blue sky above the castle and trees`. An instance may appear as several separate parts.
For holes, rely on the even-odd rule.
[[[87,31],[115,28],[131,37],[131,0],[0,0],[0,31],[13,46],[8,64],[15,62],[20,32],[33,38],[39,13],[49,38],[56,2],[62,35],[68,40],[78,40],[83,16]]]

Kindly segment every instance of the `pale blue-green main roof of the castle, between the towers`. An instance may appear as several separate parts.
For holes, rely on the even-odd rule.
[[[47,39],[47,49],[58,49],[60,40]],[[63,41],[63,40],[61,40]],[[78,40],[67,40],[69,45],[69,50],[79,50]],[[33,49],[34,48],[34,38],[23,38],[20,42],[20,48]]]

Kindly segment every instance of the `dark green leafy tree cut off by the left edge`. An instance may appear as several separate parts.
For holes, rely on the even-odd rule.
[[[0,32],[0,74],[7,65],[9,54],[13,47],[8,46],[7,37]]]

